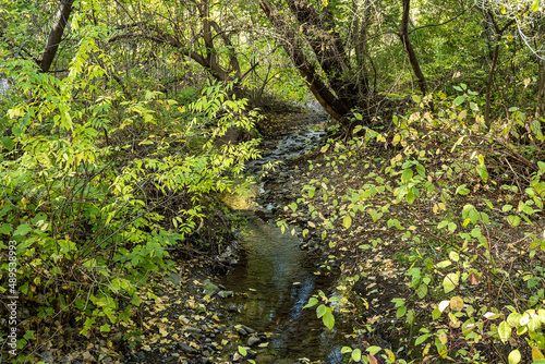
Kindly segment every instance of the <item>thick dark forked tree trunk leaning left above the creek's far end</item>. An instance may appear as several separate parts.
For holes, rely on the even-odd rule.
[[[258,0],[258,3],[280,35],[282,47],[316,100],[332,118],[343,126],[349,126],[347,117],[352,109],[366,108],[368,84],[365,74],[362,76],[360,70],[352,69],[341,37],[331,26],[332,14],[325,8],[320,16],[307,0],[287,0],[296,20],[296,31],[286,12],[278,11],[267,0]],[[305,54],[301,39],[314,52],[325,77],[317,72],[317,65],[310,60],[311,57]]]

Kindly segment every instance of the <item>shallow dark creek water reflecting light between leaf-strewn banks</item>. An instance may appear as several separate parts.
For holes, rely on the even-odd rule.
[[[324,132],[316,126],[284,135],[272,151],[250,167],[258,169],[267,161],[296,156],[316,145],[322,135]],[[316,318],[315,307],[303,310],[318,290],[330,293],[335,279],[314,275],[316,262],[300,250],[300,238],[288,231],[282,233],[268,214],[276,206],[252,203],[263,192],[259,190],[262,187],[254,186],[246,196],[226,198],[226,203],[249,221],[240,265],[221,281],[228,290],[245,293],[227,300],[227,305],[234,304],[238,308],[229,319],[232,325],[272,332],[267,348],[253,348],[258,352],[256,363],[291,364],[303,357],[337,363],[346,340],[336,329],[329,332],[324,327]],[[266,211],[268,221],[258,218],[256,209]]]

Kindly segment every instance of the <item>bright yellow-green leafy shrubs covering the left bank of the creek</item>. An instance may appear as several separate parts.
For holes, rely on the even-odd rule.
[[[64,78],[0,64],[15,81],[0,106],[0,292],[17,298],[0,342],[12,362],[37,361],[63,336],[117,331],[156,299],[146,282],[169,271],[172,252],[229,244],[217,194],[257,156],[257,139],[218,143],[258,119],[231,85],[208,83],[193,102],[125,99],[96,57],[111,65],[89,31]]]

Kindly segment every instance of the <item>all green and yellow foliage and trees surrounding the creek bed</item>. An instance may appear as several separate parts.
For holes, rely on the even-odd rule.
[[[0,292],[33,307],[14,362],[63,326],[122,325],[169,252],[229,243],[217,197],[258,156],[269,96],[336,120],[324,168],[353,165],[354,187],[313,180],[290,207],[356,262],[348,282],[366,252],[404,251],[411,333],[383,362],[545,359],[540,0],[0,3]]]

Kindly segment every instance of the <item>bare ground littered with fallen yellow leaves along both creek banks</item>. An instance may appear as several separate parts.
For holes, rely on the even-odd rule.
[[[313,123],[319,118],[302,113],[301,110],[269,112],[259,130],[265,142],[270,142],[288,130],[304,128],[305,123]],[[366,183],[370,171],[380,168],[373,165],[373,158],[382,154],[385,160],[389,160],[396,151],[377,148],[374,156],[368,155],[370,150],[365,151],[366,155],[356,156],[350,156],[347,151],[347,159],[335,159],[334,147],[326,151],[324,144],[325,141],[312,151],[290,160],[279,172],[269,173],[265,184],[267,193],[259,197],[261,204],[284,206],[275,211],[275,218],[298,226],[300,234],[302,230],[308,230],[304,238],[301,236],[301,248],[323,262],[323,275],[332,275],[331,271],[335,271],[336,275],[361,276],[362,279],[348,293],[347,314],[343,315],[354,328],[361,329],[358,337],[360,348],[364,350],[377,345],[396,351],[398,357],[410,360],[417,356],[421,362],[426,362],[429,359],[423,357],[426,356],[422,353],[423,349],[411,347],[422,324],[408,326],[404,318],[397,317],[398,307],[392,302],[395,299],[411,301],[415,321],[426,323],[433,302],[441,300],[441,296],[435,296],[434,300],[419,299],[415,291],[409,288],[411,277],[407,271],[412,264],[409,255],[414,254],[414,250],[363,214],[354,217],[350,229],[344,229],[340,219],[337,220],[329,235],[320,239],[325,221],[339,207],[319,198],[319,193],[312,199],[303,195],[304,187],[316,181],[326,181],[323,183],[327,191],[336,196],[344,195],[349,189],[359,189]],[[331,167],[332,160],[336,161],[335,168]],[[293,203],[300,206],[296,213],[288,207]],[[311,206],[317,214],[310,213]],[[429,207],[415,208],[422,209],[421,215],[433,214]],[[382,243],[372,244],[377,239],[382,239]],[[443,252],[429,247],[429,251],[419,254],[437,256]],[[149,288],[158,296],[159,304],[153,300],[144,302],[134,312],[133,320],[123,328],[123,332],[104,333],[89,339],[86,348],[80,348],[70,355],[76,359],[73,362],[232,363],[241,360],[237,353],[239,343],[246,342],[249,347],[254,345],[253,342],[267,343],[268,333],[253,332],[249,327],[229,326],[227,323],[229,312],[237,308],[222,300],[239,292],[226,291],[218,284],[217,270],[214,269],[216,263],[211,258],[195,256],[177,262],[177,272],[166,274]],[[347,282],[347,286],[352,286],[350,283]],[[476,296],[486,295],[479,286],[471,289]],[[124,341],[126,338],[130,345]],[[403,345],[404,349],[401,348]],[[413,352],[410,353],[410,350]],[[254,351],[250,353],[250,359],[255,355]]]

